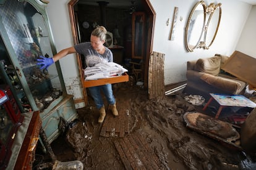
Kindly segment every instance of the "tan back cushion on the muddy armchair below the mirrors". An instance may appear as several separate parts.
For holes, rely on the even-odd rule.
[[[195,70],[217,76],[220,72],[221,57],[215,56],[206,59],[198,59]]]

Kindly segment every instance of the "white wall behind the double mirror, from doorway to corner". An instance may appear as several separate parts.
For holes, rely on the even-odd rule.
[[[153,51],[165,54],[164,83],[171,84],[186,80],[186,62],[200,57],[211,57],[218,54],[231,55],[235,50],[245,20],[250,12],[248,4],[233,0],[220,1],[222,3],[222,18],[218,34],[213,45],[208,50],[195,49],[187,52],[184,46],[184,33],[190,10],[197,1],[188,3],[186,0],[151,0],[156,12]],[[213,1],[205,1],[210,4]],[[172,20],[174,7],[179,7],[174,41],[168,40],[170,25],[166,20]],[[239,12],[237,12],[239,11]],[[182,17],[182,20],[181,20]]]

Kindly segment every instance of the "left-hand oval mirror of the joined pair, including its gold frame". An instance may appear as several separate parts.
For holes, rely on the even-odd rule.
[[[199,1],[190,12],[185,33],[185,44],[189,52],[192,52],[198,46],[202,38],[206,18],[205,10],[205,2]]]

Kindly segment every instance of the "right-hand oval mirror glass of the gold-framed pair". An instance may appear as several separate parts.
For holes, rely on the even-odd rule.
[[[216,4],[215,10],[210,14],[210,17],[207,22],[207,26],[205,26],[207,29],[205,30],[204,42],[205,42],[205,47],[207,49],[209,49],[211,44],[213,44],[213,41],[218,32],[218,28],[220,26],[220,20],[221,20],[221,3]]]

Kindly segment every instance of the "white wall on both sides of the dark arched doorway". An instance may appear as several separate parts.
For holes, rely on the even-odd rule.
[[[69,0],[50,1],[47,6],[49,21],[53,30],[57,51],[73,46],[70,30]],[[231,55],[236,50],[237,42],[244,28],[251,5],[240,1],[225,0],[222,3],[222,18],[215,42],[209,50],[196,49],[187,52],[184,46],[184,32],[190,10],[198,1],[186,0],[150,0],[156,12],[155,33],[153,36],[153,51],[165,54],[164,84],[178,83],[186,80],[186,62],[218,54]],[[205,1],[207,4],[213,1]],[[179,7],[174,41],[168,40],[170,25],[166,26],[168,18],[172,20],[174,7]],[[237,12],[239,11],[239,12]],[[61,19],[60,19],[61,18]],[[255,24],[255,23],[254,23]],[[244,49],[244,47],[239,47]],[[247,49],[244,51],[247,52]],[[79,73],[75,55],[69,55],[60,60],[64,81],[69,94],[75,99],[82,96],[79,86]],[[81,107],[81,105],[76,107]]]

